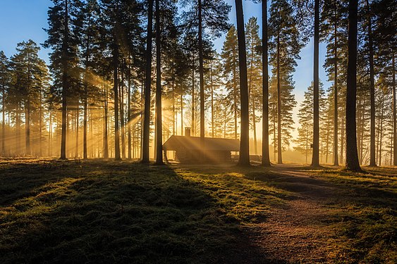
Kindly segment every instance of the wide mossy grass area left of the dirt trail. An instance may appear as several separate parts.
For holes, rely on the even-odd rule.
[[[0,263],[216,263],[284,191],[109,161],[0,165]],[[262,187],[261,187],[262,186]]]

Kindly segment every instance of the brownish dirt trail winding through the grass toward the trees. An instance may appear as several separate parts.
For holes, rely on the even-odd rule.
[[[324,263],[329,239],[336,237],[329,227],[335,221],[335,194],[341,190],[313,176],[303,165],[271,167],[275,187],[291,191],[294,199],[273,208],[266,221],[248,227],[248,236],[265,260],[248,263]]]

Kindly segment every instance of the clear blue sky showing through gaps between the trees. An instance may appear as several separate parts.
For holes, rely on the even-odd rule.
[[[226,0],[232,6],[229,13],[230,23],[236,24],[236,9],[234,0]],[[47,33],[43,28],[47,28],[47,11],[52,5],[50,0],[0,0],[0,50],[4,51],[6,56],[10,57],[16,53],[16,44],[18,42],[32,39],[37,44],[42,44],[47,39]],[[260,4],[254,4],[252,1],[243,1],[244,20],[255,16],[258,18],[259,27],[261,24],[262,12]],[[262,37],[262,28],[259,28],[259,35]],[[214,41],[217,51],[221,52],[224,43],[225,34]],[[50,50],[42,49],[39,56],[49,63],[48,53]],[[324,69],[321,67],[325,61],[326,45],[321,43],[319,49],[320,55],[320,80],[324,84],[324,89],[331,85]],[[303,94],[310,82],[313,80],[313,41],[305,46],[300,52],[300,61],[293,75],[295,80],[295,98],[298,105],[294,111],[295,127],[298,126],[296,113],[300,102],[303,100]],[[259,124],[258,124],[259,125]],[[295,136],[295,133],[294,133]]]

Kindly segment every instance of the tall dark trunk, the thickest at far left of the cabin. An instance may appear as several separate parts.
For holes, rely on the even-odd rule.
[[[65,19],[63,22],[64,37],[62,43],[62,134],[61,134],[61,160],[66,160],[66,111],[68,111],[66,96],[68,96],[68,42],[69,42],[69,13],[68,0],[65,0]]]

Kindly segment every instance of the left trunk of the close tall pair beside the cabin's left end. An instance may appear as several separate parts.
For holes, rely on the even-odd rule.
[[[145,79],[145,113],[142,130],[142,163],[149,163],[150,137],[150,84],[152,82],[152,30],[153,0],[148,0],[147,8],[147,40],[146,40],[146,79]]]

